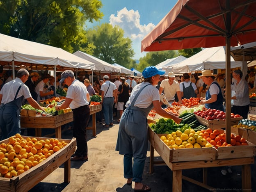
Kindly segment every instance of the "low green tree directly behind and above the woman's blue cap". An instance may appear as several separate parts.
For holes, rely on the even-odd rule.
[[[166,50],[166,51],[155,51],[149,52],[146,56],[139,59],[139,64],[137,66],[138,70],[142,71],[147,66],[155,66],[166,59],[177,57],[175,50]]]

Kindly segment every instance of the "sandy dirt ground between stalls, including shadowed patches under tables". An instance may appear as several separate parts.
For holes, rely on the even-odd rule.
[[[116,123],[115,119],[115,123]],[[133,185],[125,185],[123,178],[123,155],[115,151],[119,125],[103,128],[96,124],[96,137],[87,130],[88,158],[87,162],[71,162],[71,182],[64,183],[64,165],[35,185],[30,192],[131,192]],[[48,134],[48,133],[47,133]],[[52,134],[54,137],[54,133]],[[43,136],[43,133],[42,133]],[[48,136],[48,135],[46,135]],[[62,131],[63,139],[72,138],[72,130]],[[149,156],[144,167],[143,183],[151,187],[152,192],[172,191],[172,171],[166,165],[155,166],[154,172],[149,174]],[[155,152],[155,159],[161,160]],[[256,165],[251,165],[252,192],[256,191]],[[231,171],[229,172],[228,169]],[[227,174],[223,175],[222,170]],[[183,175],[202,182],[202,169],[183,170]],[[241,166],[208,168],[208,185],[217,188],[217,191],[242,191]],[[206,192],[203,187],[194,183],[182,181],[183,192]]]

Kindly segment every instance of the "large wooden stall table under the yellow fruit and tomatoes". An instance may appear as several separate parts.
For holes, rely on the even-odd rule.
[[[167,151],[169,151],[168,146],[165,145],[160,138],[155,134],[152,133],[153,131],[151,128],[149,128],[149,142],[151,143],[150,145],[150,168],[149,171],[150,173],[153,173],[153,166],[155,165],[167,165],[171,171],[173,171],[173,185],[172,185],[172,191],[173,192],[181,192],[182,191],[182,179],[190,181],[194,184],[200,185],[201,187],[204,187],[208,190],[211,191],[217,191],[215,187],[210,187],[207,185],[207,168],[208,167],[223,167],[223,166],[236,166],[236,165],[242,165],[242,189],[244,191],[251,191],[251,166],[250,164],[254,164],[254,156],[255,156],[255,145],[254,146],[248,146],[248,151],[244,150],[241,151],[240,155],[238,154],[237,158],[232,158],[232,155],[229,153],[225,152],[224,153],[220,152],[218,155],[216,153],[216,158],[210,160],[211,156],[209,154],[206,154],[207,160],[191,160],[190,159],[190,152],[187,153],[187,158],[186,161],[180,161],[180,162],[170,162],[169,159],[172,158],[170,157],[170,154],[167,154]],[[158,139],[159,138],[159,139]],[[234,146],[235,147],[235,146]],[[239,147],[239,146],[238,146]],[[228,147],[226,147],[229,149]],[[194,148],[192,148],[194,149]],[[205,150],[206,148],[200,148]],[[199,149],[199,150],[200,150]],[[232,148],[230,148],[232,149]],[[238,148],[239,149],[239,148]],[[242,149],[242,148],[241,148]],[[247,149],[247,148],[244,148]],[[154,150],[156,150],[163,161],[154,161]],[[181,151],[178,151],[181,150]],[[175,153],[175,159],[174,161],[177,161],[177,155],[178,152],[185,152],[187,149],[177,149],[175,150],[177,153]],[[191,149],[189,149],[191,150]],[[198,149],[196,149],[198,151]],[[247,151],[247,152],[245,152]],[[245,152],[245,153],[244,153]],[[231,151],[231,153],[239,153],[239,151]],[[246,155],[244,155],[246,154]],[[231,158],[226,158],[230,155]],[[182,155],[181,155],[182,156]],[[185,156],[185,155],[184,155]],[[199,158],[203,157],[203,154],[198,155]],[[215,156],[215,155],[213,155]],[[251,157],[250,157],[251,156]],[[197,157],[197,154],[194,154],[193,158]],[[223,159],[218,159],[218,157],[223,158]],[[181,157],[183,158],[183,157]],[[182,170],[183,169],[195,169],[195,168],[203,168],[203,183],[196,181],[192,178],[188,178],[186,176],[182,175]]]

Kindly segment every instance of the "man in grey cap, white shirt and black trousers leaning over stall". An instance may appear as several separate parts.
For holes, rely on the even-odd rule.
[[[86,126],[89,121],[90,96],[86,86],[75,79],[73,71],[66,70],[61,74],[60,83],[64,82],[69,86],[66,99],[61,105],[55,107],[56,110],[62,110],[70,107],[73,111],[73,137],[76,138],[77,149],[71,161],[87,161],[88,147],[86,139]]]

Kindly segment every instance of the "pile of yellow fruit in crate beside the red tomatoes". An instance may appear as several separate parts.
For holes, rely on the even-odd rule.
[[[192,128],[184,130],[176,130],[168,135],[162,135],[160,139],[170,149],[184,149],[184,148],[201,148],[201,147],[212,147],[212,144],[206,141],[201,136],[201,131],[195,131]]]

